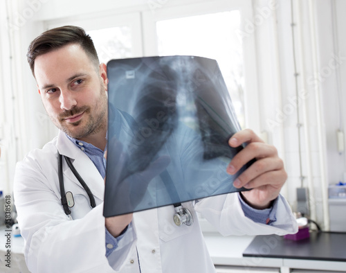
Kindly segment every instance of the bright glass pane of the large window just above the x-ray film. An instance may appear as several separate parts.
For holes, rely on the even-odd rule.
[[[215,12],[156,22],[158,55],[198,55],[217,60],[239,123],[244,118],[242,41],[236,30],[239,10]]]

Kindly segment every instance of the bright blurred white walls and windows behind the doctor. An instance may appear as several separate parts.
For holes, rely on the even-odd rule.
[[[282,194],[293,211],[323,230],[343,229],[332,218],[346,215],[343,186],[334,186],[346,182],[345,11],[343,0],[0,1],[0,190],[12,193],[16,162],[57,134],[26,62],[28,45],[73,24],[91,35],[104,63],[216,59],[242,127],[284,159]]]

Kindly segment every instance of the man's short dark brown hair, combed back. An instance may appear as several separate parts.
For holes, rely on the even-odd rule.
[[[90,35],[85,33],[83,28],[79,26],[60,26],[45,31],[30,43],[26,57],[33,76],[35,77],[35,59],[39,55],[60,49],[67,44],[80,44],[91,61],[95,62],[97,66],[100,64],[93,40]]]

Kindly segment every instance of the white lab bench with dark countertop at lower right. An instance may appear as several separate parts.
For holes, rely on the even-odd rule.
[[[312,233],[304,242],[275,235],[223,237],[206,233],[204,238],[215,265],[244,267],[245,272],[264,267],[281,273],[292,269],[346,272],[346,234]]]

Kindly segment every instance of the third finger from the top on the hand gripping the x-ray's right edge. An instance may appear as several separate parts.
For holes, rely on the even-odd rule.
[[[260,177],[260,175],[273,170],[283,170],[283,168],[284,164],[281,159],[266,157],[264,159],[255,161],[241,175],[239,175],[239,177],[237,177],[233,184],[236,188],[241,188],[242,186],[250,188],[248,185],[252,184],[249,183],[251,183],[251,181],[253,181],[253,179],[256,177]]]

